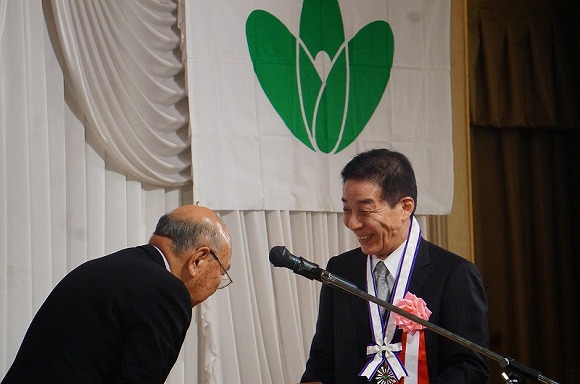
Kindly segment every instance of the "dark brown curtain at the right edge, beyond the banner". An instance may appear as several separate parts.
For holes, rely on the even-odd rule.
[[[565,1],[468,1],[476,264],[490,349],[580,382],[580,29]],[[490,383],[504,383],[492,364]]]

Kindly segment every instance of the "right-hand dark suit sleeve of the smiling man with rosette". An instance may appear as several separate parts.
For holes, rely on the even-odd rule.
[[[465,261],[457,263],[443,287],[441,298],[443,328],[480,346],[488,346],[487,300],[477,268]],[[435,384],[486,383],[487,358],[446,338],[441,338]]]

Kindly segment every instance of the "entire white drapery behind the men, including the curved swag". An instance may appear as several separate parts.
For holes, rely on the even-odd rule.
[[[187,137],[181,69],[167,53],[179,44],[169,33],[178,34],[175,9],[175,1],[0,0],[0,377],[35,312],[67,272],[145,243],[161,214],[194,201],[185,171],[189,149],[173,140]],[[110,31],[101,24],[105,19]],[[111,34],[98,44],[91,37],[92,52],[88,35],[73,36],[75,28],[87,34],[89,25]],[[117,56],[121,49],[128,50],[121,56],[144,56],[129,64],[133,58]],[[142,68],[146,63],[153,72]],[[153,101],[144,94],[154,94]],[[146,133],[134,130],[140,124]],[[152,141],[138,152],[150,152],[137,158],[125,144],[102,140],[107,133],[92,133],[99,129],[115,140],[127,133],[127,142],[145,135]],[[151,164],[153,157],[163,165]],[[320,283],[274,269],[268,251],[285,245],[324,266],[331,255],[355,247],[356,239],[341,214],[219,213],[233,237],[234,283],[195,308],[167,382],[298,382]]]

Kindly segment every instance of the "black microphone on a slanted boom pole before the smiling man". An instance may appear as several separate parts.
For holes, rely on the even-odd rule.
[[[537,380],[539,383],[544,384],[559,384],[558,382],[544,376],[540,371],[532,369],[530,367],[525,366],[524,364],[510,358],[502,356],[498,353],[495,353],[487,348],[482,347],[479,344],[476,344],[470,340],[467,340],[464,337],[461,337],[453,332],[446,330],[438,325],[432,324],[427,320],[424,320],[418,316],[413,315],[397,306],[394,306],[391,303],[388,303],[384,300],[381,300],[373,295],[370,295],[368,292],[358,289],[356,285],[353,283],[339,277],[333,275],[332,273],[320,268],[318,264],[311,263],[302,257],[295,256],[291,254],[286,247],[283,246],[276,246],[270,250],[270,262],[275,267],[286,267],[292,269],[294,273],[302,275],[310,280],[318,280],[322,282],[324,285],[328,285],[332,288],[339,289],[360,297],[361,299],[370,301],[375,303],[387,310],[397,313],[409,320],[418,323],[428,330],[437,333],[453,342],[456,342],[464,347],[471,349],[472,351],[478,352],[492,360],[495,360],[499,363],[500,367],[503,369],[510,369],[512,372],[516,374],[516,377],[510,377],[510,375],[506,375],[505,373],[502,374],[505,382],[507,384],[517,384],[523,383],[525,378]],[[524,381],[520,381],[524,380]]]

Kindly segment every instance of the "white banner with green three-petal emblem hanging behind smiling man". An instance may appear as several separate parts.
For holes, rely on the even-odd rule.
[[[342,167],[385,147],[420,214],[453,199],[450,0],[186,2],[194,199],[342,211]]]

